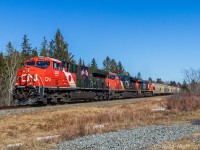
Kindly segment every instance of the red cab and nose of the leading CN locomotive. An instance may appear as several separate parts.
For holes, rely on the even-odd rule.
[[[46,66],[38,63],[48,62]],[[49,57],[34,57],[26,60],[17,72],[17,86],[71,87],[76,84],[76,75],[62,68],[59,60]],[[74,87],[74,86],[73,86]]]

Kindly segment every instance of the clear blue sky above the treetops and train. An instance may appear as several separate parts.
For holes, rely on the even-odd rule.
[[[135,76],[182,82],[183,69],[200,68],[200,2],[193,0],[1,0],[0,50],[32,47],[60,29],[69,50],[99,67],[106,56]]]

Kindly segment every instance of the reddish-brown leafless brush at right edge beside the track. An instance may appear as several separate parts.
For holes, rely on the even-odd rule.
[[[177,94],[169,97],[167,108],[175,111],[194,111],[200,109],[200,96],[192,94]]]

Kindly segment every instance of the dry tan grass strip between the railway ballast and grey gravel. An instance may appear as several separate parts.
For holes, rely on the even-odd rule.
[[[152,108],[165,105],[155,99],[136,104],[109,107],[68,108],[32,114],[0,117],[0,149],[8,144],[23,143],[20,149],[49,149],[54,143],[78,136],[153,124],[171,124],[200,118],[200,113],[169,111],[155,112]],[[178,119],[177,119],[178,118]],[[98,126],[101,125],[101,126]],[[61,135],[51,140],[37,141],[38,137]]]

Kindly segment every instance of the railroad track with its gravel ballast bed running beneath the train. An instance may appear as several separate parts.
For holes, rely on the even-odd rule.
[[[47,106],[6,106],[0,107],[0,116],[3,115],[17,115],[17,114],[30,114],[39,111],[51,111],[51,110],[63,110],[68,108],[76,107],[109,107],[112,105],[121,105],[121,104],[134,104],[142,101],[148,101],[158,98],[167,98],[168,96],[155,96],[155,97],[140,97],[132,99],[121,99],[121,100],[109,100],[109,101],[95,101],[95,102],[70,102],[63,105],[47,105]]]

